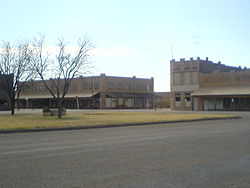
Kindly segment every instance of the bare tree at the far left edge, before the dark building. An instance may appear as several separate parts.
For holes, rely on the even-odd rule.
[[[3,42],[0,51],[0,84],[9,98],[11,114],[15,113],[15,102],[26,82],[33,76],[31,69],[32,49],[28,42]]]

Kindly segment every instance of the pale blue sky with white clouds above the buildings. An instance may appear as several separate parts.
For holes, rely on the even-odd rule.
[[[154,77],[170,90],[174,58],[206,57],[250,68],[249,0],[0,0],[0,40],[45,35],[77,41],[95,51],[94,75]]]

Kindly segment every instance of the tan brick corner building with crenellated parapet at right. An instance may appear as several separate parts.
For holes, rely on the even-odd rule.
[[[170,61],[171,109],[250,110],[250,70],[190,58]]]

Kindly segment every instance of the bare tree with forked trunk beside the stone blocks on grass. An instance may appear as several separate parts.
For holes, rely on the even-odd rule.
[[[88,60],[92,43],[87,37],[79,39],[74,53],[71,51],[72,49],[69,49],[68,43],[59,40],[57,44],[58,52],[52,58],[45,52],[44,43],[44,37],[34,40],[36,55],[33,65],[45,87],[57,101],[58,118],[61,118],[62,104],[72,79],[90,70]]]

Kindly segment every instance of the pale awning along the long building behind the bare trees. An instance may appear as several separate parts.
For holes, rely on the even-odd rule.
[[[65,98],[89,98],[96,93],[69,93]],[[52,95],[20,95],[20,99],[52,99]]]

